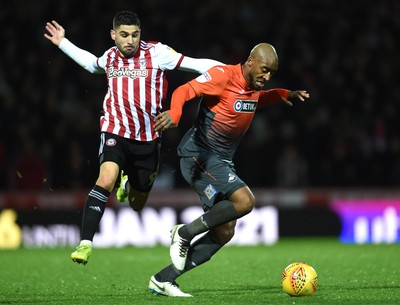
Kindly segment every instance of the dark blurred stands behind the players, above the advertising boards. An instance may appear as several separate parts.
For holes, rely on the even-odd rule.
[[[399,1],[15,0],[0,11],[3,195],[86,193],[94,185],[105,75],[88,73],[43,34],[54,19],[73,43],[101,56],[114,45],[109,31],[120,10],[139,15],[143,40],[191,57],[236,64],[269,42],[280,62],[268,88],[310,93],[306,103],[255,116],[235,158],[250,187],[313,190],[315,199],[338,189],[386,196],[400,186]],[[194,77],[170,72],[169,95]],[[186,188],[176,146],[196,107],[188,103],[179,128],[163,136],[156,191]]]

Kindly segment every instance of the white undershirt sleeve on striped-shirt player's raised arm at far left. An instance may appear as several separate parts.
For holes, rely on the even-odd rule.
[[[104,70],[97,65],[97,57],[92,53],[78,48],[67,38],[64,38],[58,46],[61,51],[71,57],[82,68],[90,73],[104,73]]]

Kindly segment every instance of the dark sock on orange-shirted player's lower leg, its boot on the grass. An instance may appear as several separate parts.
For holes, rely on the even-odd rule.
[[[209,261],[223,245],[213,240],[209,234],[199,238],[190,246],[185,269],[179,271],[171,264],[155,275],[157,281],[173,283],[180,275]]]

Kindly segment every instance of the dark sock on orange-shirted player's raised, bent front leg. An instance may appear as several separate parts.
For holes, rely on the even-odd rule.
[[[231,201],[223,200],[199,218],[181,227],[178,233],[182,238],[192,240],[196,235],[204,233],[218,225],[238,219],[240,216]]]

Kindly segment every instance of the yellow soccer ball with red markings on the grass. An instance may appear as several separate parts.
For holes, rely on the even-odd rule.
[[[317,285],[317,272],[306,263],[292,263],[282,272],[283,291],[291,296],[312,295],[317,289]]]

